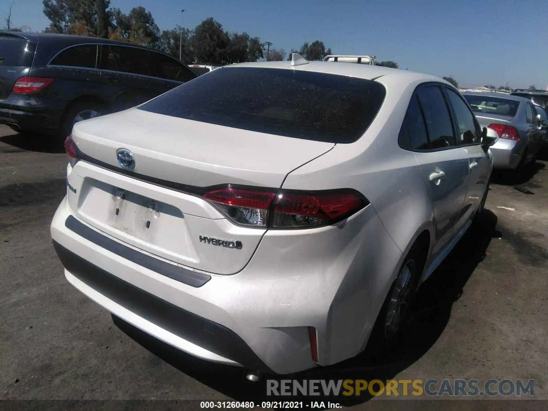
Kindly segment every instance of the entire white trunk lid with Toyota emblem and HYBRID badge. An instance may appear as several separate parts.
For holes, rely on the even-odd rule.
[[[83,153],[68,175],[68,204],[106,235],[217,274],[247,264],[265,229],[237,226],[202,193],[224,184],[280,187],[333,143],[233,129],[130,109],[75,124]],[[125,170],[117,151],[131,152]]]

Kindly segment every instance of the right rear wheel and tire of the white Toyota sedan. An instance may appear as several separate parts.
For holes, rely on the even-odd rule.
[[[409,250],[396,279],[390,287],[390,291],[386,295],[383,307],[369,337],[368,347],[383,350],[397,344],[397,341],[401,338],[402,328],[404,328],[409,317],[409,307],[413,305],[415,290],[423,273],[424,260],[424,252],[422,252],[420,244],[415,244]],[[402,287],[402,284],[405,284],[405,287]],[[405,294],[404,296],[402,296],[402,291]]]

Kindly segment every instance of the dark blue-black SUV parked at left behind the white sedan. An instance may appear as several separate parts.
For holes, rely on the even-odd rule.
[[[196,77],[148,47],[0,32],[0,124],[66,137],[78,121],[128,109]]]

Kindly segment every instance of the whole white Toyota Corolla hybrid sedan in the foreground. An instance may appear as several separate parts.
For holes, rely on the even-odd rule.
[[[437,77],[221,67],[75,124],[52,238],[73,286],[182,351],[327,366],[398,338],[483,208],[496,139]]]

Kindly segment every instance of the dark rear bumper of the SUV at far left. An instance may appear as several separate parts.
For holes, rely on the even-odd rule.
[[[65,100],[12,93],[0,101],[0,124],[23,131],[56,132],[66,105]]]

